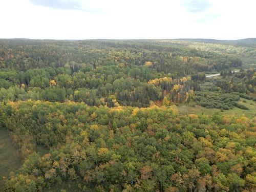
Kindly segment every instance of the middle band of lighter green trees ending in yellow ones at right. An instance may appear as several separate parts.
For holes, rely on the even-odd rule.
[[[0,70],[0,101],[70,100],[95,106],[141,107],[149,106],[151,101],[162,101],[165,96],[170,102],[187,102],[193,89],[189,77],[173,79],[148,66],[130,68],[118,66],[115,61],[106,64],[96,69],[84,65],[76,72],[63,67],[26,72]]]

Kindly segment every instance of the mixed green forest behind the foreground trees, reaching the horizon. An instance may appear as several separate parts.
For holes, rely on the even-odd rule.
[[[0,100],[71,100],[88,105],[150,106],[184,103],[199,90],[202,72],[240,68],[233,54],[205,51],[180,42],[0,41]],[[253,71],[254,72],[254,71]],[[191,76],[192,75],[192,79]],[[253,92],[253,73],[246,85]],[[243,88],[238,88],[243,89]]]

